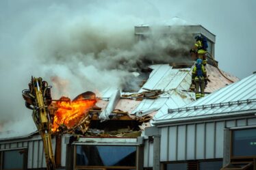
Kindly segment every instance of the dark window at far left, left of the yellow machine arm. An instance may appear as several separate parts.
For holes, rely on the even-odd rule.
[[[2,152],[2,169],[23,169],[25,150],[8,150]]]

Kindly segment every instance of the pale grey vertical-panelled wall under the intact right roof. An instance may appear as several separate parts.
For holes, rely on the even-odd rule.
[[[224,129],[249,125],[256,117],[162,127],[160,161],[223,158]]]

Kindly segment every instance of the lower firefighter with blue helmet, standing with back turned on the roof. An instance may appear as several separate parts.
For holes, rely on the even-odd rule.
[[[205,87],[207,85],[207,72],[203,66],[202,59],[197,59],[192,70],[192,85],[195,85],[196,100],[205,96]],[[200,93],[199,93],[200,88]]]

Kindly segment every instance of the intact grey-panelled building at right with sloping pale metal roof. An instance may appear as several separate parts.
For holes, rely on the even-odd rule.
[[[255,169],[255,113],[255,73],[184,107],[168,109],[154,123],[161,136],[159,161],[164,169]]]

